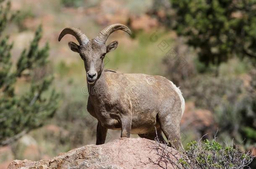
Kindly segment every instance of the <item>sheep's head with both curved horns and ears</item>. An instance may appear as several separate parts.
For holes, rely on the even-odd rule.
[[[70,34],[76,37],[79,45],[74,42],[69,42],[68,46],[74,52],[79,53],[84,61],[86,70],[87,82],[95,83],[99,78],[103,69],[103,59],[106,53],[115,50],[118,47],[118,41],[113,41],[109,45],[105,45],[109,35],[116,30],[123,30],[131,35],[131,30],[122,24],[113,24],[104,28],[99,35],[94,39],[89,39],[87,36],[76,28],[65,28],[59,36],[59,41],[64,35]]]

